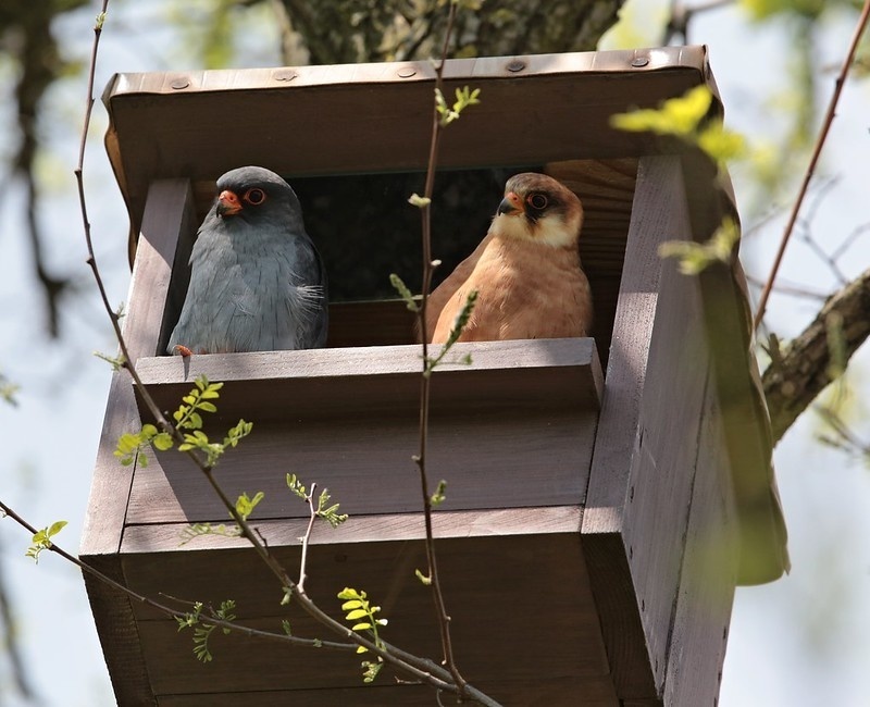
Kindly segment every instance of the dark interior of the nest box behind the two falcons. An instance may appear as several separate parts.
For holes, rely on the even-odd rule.
[[[606,365],[636,170],[637,161],[629,158],[439,171],[432,208],[432,249],[442,265],[433,286],[484,237],[507,178],[518,172],[546,172],[573,189],[584,206],[580,255],[595,303],[593,336]],[[398,274],[413,293],[420,292],[421,218],[408,197],[423,193],[424,173],[283,176],[299,197],[306,230],[326,265],[327,346],[414,343],[413,315],[398,299],[389,275]],[[201,223],[215,196],[214,182],[196,182],[194,191],[197,223]],[[187,260],[196,234],[185,236],[173,271],[161,351],[187,289]]]

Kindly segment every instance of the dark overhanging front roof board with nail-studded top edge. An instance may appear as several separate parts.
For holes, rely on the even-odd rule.
[[[632,63],[638,57],[644,66]],[[610,115],[655,107],[708,80],[701,47],[517,59],[523,64],[519,72],[507,69],[508,58],[447,62],[448,91],[473,83],[486,99],[445,136],[442,166],[648,153],[659,140],[613,129]],[[158,175],[213,181],[239,164],[293,176],[420,170],[433,78],[426,62],[119,75],[103,100],[133,221],[138,223],[142,195]],[[505,107],[518,96],[539,110],[505,121]],[[226,115],[262,139],[215,151]],[[582,131],[576,115],[583,116]],[[152,145],[161,149],[146,147]],[[390,156],[388,165],[384,154]]]

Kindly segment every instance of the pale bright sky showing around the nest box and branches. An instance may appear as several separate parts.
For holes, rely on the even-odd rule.
[[[626,3],[635,46],[656,46],[650,28],[663,16],[663,1]],[[187,3],[186,29],[173,22],[172,3],[117,1],[110,8],[97,72],[97,92],[114,72],[194,69],[198,13],[209,3]],[[70,59],[87,61],[97,12],[70,14],[55,26]],[[233,65],[279,63],[257,16],[239,15]],[[854,16],[834,18],[816,48],[822,72],[823,101],[833,88],[834,71],[853,32]],[[647,34],[644,34],[644,29]],[[621,35],[622,39],[626,35]],[[616,39],[611,40],[611,44]],[[698,16],[691,41],[706,44],[730,127],[754,144],[783,129],[776,111],[788,106],[782,94],[794,60],[786,35],[770,25],[747,25],[736,9]],[[8,99],[14,75],[0,63],[0,154],[14,146],[13,106]],[[45,334],[42,302],[27,263],[22,237],[22,186],[7,179],[0,193],[0,371],[22,386],[20,406],[0,405],[0,497],[38,526],[69,520],[59,543],[75,551],[87,507],[90,474],[105,407],[110,369],[92,357],[115,349],[89,269],[85,265],[73,169],[85,100],[80,75],[59,83],[47,97],[40,116],[45,145],[38,170],[44,196],[40,223],[49,235],[51,263],[71,274],[76,295],[64,305],[62,338]],[[856,227],[870,222],[870,85],[847,84],[824,152],[820,183],[836,179],[816,203],[811,233],[829,252]],[[85,163],[87,196],[98,261],[113,302],[126,300],[127,218],[102,146],[107,119],[101,103]],[[732,171],[739,206],[751,202],[751,188]],[[768,204],[775,210],[783,204]],[[750,276],[763,280],[772,261],[783,219],[763,228],[744,212],[742,246]],[[870,234],[858,238],[838,264],[855,276],[870,263]],[[817,292],[836,287],[829,268],[812,250],[796,241],[786,255],[783,281]],[[799,333],[815,315],[819,301],[774,295],[769,321],[781,338]],[[856,429],[870,439],[867,406],[858,395],[868,389],[870,356],[854,359],[848,381],[854,390],[852,414]],[[725,660],[720,705],[780,707],[867,704],[870,660],[870,477],[868,470],[841,451],[816,442],[820,431],[813,414],[805,414],[774,454],[790,530],[793,571],[760,587],[737,591]],[[15,631],[28,672],[46,707],[114,704],[84,583],[77,569],[45,554],[38,566],[24,557],[29,538],[11,521],[0,522],[0,573],[10,587],[17,617]],[[0,704],[20,705],[10,697],[5,662],[0,660]]]

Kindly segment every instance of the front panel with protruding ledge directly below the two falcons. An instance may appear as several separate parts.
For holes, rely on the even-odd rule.
[[[593,339],[463,344],[452,356],[465,352],[471,367],[433,379],[428,469],[448,481],[445,509],[582,504],[600,386]],[[307,513],[288,472],[328,486],[352,514],[417,510],[419,369],[419,348],[402,346],[144,359],[140,375],[166,409],[199,374],[225,382],[207,432],[239,418],[256,426],[215,477],[233,498],[263,491],[256,517],[268,519]],[[127,523],[224,518],[184,456],[137,470]]]

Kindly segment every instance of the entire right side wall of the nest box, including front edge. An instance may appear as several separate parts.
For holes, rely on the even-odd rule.
[[[728,466],[710,466],[705,454],[711,446],[721,451],[719,437],[701,433],[721,430],[722,421],[710,402],[717,390],[709,384],[700,285],[658,255],[660,243],[675,238],[694,239],[681,158],[642,158],[583,521],[593,592],[623,698],[660,699],[667,677],[681,672],[688,656],[712,652],[719,667],[724,656],[720,623],[674,634],[678,598],[683,612],[696,600],[684,583],[700,581],[685,569],[691,517],[706,503],[696,496],[708,489],[696,480],[709,475],[725,488],[731,483]],[[694,523],[706,528],[701,511],[694,512]],[[722,541],[717,553],[730,566],[732,538]],[[717,606],[728,616],[733,573],[724,581]],[[627,616],[631,603],[610,598],[620,586],[634,588],[636,605]],[[638,631],[648,654],[630,653]],[[713,691],[717,679],[718,669],[693,677]]]

